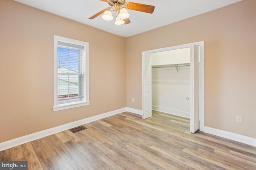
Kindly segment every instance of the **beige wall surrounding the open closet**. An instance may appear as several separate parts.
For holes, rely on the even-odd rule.
[[[255,0],[126,38],[127,107],[142,109],[142,51],[197,41],[205,41],[205,126],[256,138]]]

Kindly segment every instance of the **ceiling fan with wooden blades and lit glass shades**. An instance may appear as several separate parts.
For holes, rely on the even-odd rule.
[[[127,12],[128,10],[135,10],[140,12],[146,12],[152,14],[154,12],[155,7],[151,5],[145,5],[145,4],[138,4],[135,2],[125,2],[125,0],[101,0],[104,2],[108,2],[110,7],[105,8],[104,10],[98,12],[94,16],[90,17],[89,20],[96,18],[100,14],[102,15],[102,18],[107,21],[113,20],[112,12],[116,12],[116,25],[121,24],[128,24],[131,21],[129,20],[129,14]]]

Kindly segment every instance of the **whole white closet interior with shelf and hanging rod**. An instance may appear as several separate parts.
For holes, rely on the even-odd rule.
[[[152,110],[190,118],[190,49],[151,56]]]

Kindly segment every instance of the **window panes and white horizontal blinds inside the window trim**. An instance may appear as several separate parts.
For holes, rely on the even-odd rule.
[[[84,47],[58,42],[58,104],[84,98]]]

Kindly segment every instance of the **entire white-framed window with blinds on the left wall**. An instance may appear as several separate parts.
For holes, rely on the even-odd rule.
[[[89,105],[89,43],[54,35],[53,111]]]

